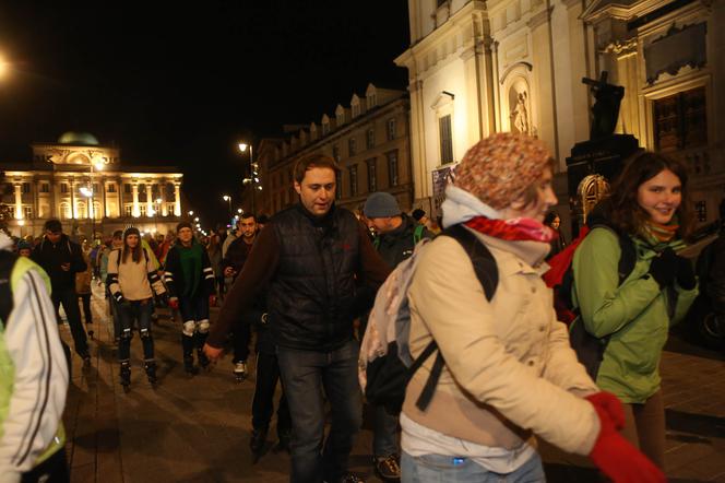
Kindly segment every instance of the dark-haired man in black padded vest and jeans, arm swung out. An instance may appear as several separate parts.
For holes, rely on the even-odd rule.
[[[217,360],[239,315],[266,288],[292,414],[293,482],[359,481],[347,473],[361,420],[353,320],[371,307],[389,269],[355,215],[334,205],[337,172],[322,154],[297,162],[300,202],[260,233],[204,347]],[[332,408],[324,444],[323,390]]]

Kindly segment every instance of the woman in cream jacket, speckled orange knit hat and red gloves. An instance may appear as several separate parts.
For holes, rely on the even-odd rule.
[[[443,226],[463,225],[492,255],[488,301],[471,258],[453,238],[424,246],[408,291],[409,349],[431,340],[444,367],[429,405],[416,405],[432,360],[411,378],[402,426],[402,480],[545,481],[533,436],[587,455],[615,481],[664,475],[618,433],[621,404],[578,363],[540,274],[557,201],[543,142],[499,133],[475,144],[445,189]],[[443,232],[443,235],[445,232]]]

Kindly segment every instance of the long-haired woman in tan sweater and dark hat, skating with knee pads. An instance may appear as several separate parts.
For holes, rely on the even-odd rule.
[[[141,245],[139,228],[123,232],[123,247],[108,256],[108,290],[116,301],[120,321],[118,360],[121,364],[121,385],[128,390],[131,384],[131,338],[136,322],[143,344],[143,367],[151,384],[156,384],[154,340],[151,335],[151,315],[154,310],[154,292],[165,295],[166,288],[156,273],[152,257]]]

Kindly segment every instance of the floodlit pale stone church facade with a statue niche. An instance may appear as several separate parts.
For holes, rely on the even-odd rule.
[[[700,222],[725,198],[723,0],[408,0],[415,203],[435,212],[448,172],[499,131],[544,140],[558,162],[589,140],[582,78],[625,86],[617,133],[687,162]]]

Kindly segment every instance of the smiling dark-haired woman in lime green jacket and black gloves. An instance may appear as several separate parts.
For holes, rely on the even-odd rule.
[[[668,329],[697,295],[689,260],[677,251],[690,232],[687,168],[644,152],[630,160],[602,203],[611,227],[594,227],[573,259],[574,303],[587,332],[608,344],[596,384],[623,403],[623,435],[664,468],[665,411],[659,360]],[[637,261],[620,283],[619,235]]]

